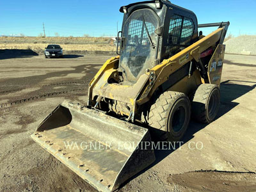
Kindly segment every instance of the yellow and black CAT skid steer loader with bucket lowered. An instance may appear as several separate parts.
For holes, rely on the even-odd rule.
[[[198,24],[195,13],[164,0],[120,12],[118,56],[90,81],[87,106],[63,102],[31,136],[99,191],[115,191],[155,161],[151,136],[179,141],[191,116],[214,120],[229,26]]]

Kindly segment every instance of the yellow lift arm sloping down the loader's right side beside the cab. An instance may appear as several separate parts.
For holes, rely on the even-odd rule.
[[[217,49],[218,45],[223,45],[225,35],[227,34],[229,22],[201,24],[198,25],[198,28],[214,26],[219,26],[219,28],[210,33],[209,35],[204,36],[204,38],[201,38],[186,49],[178,52],[168,60],[164,60],[159,65],[156,65],[155,67],[150,69],[148,75],[151,76],[151,81],[150,83],[148,83],[147,88],[145,88],[144,92],[141,94],[140,99],[137,100],[138,104],[143,104],[147,102],[150,97],[152,97],[156,89],[164,82],[168,81],[170,75],[173,74],[174,71],[179,70],[179,68],[183,67],[189,61],[195,60],[197,63],[200,64],[200,54],[202,52],[209,49],[209,47],[216,46]],[[224,52],[225,50],[223,50],[222,55],[224,55]],[[204,79],[202,79],[202,83],[204,83]]]

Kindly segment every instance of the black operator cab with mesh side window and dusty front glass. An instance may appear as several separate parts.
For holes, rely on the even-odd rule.
[[[198,38],[195,13],[169,1],[156,0],[122,6],[120,72],[136,82],[148,68],[193,44]],[[119,33],[118,33],[119,34]]]

